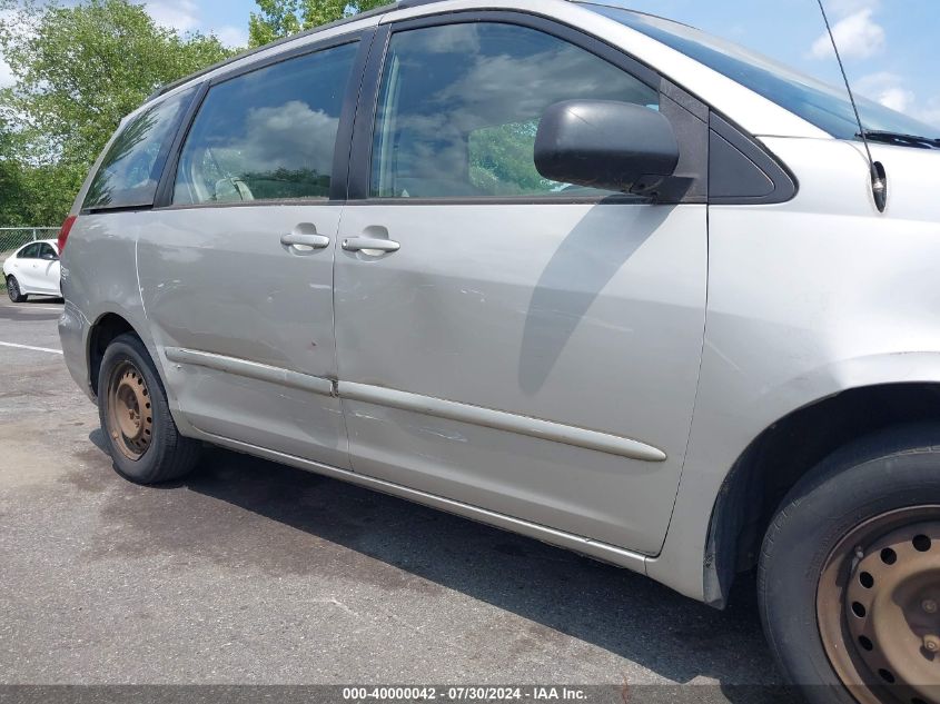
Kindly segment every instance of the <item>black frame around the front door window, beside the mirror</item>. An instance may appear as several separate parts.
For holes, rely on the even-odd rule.
[[[379,205],[566,205],[566,204],[625,204],[645,205],[650,200],[636,198],[635,196],[580,196],[565,197],[557,195],[545,196],[484,196],[484,197],[445,197],[445,198],[379,198],[369,195],[372,179],[372,148],[375,119],[378,110],[378,93],[382,83],[382,73],[388,56],[388,47],[392,34],[412,29],[425,27],[437,27],[444,24],[463,24],[474,22],[494,22],[502,24],[516,24],[537,31],[545,32],[575,47],[593,53],[625,71],[647,85],[650,88],[660,91],[685,111],[708,123],[709,108],[691,93],[667,81],[657,71],[642,63],[634,57],[624,52],[623,49],[614,47],[602,39],[588,34],[583,30],[570,24],[534,12],[522,10],[452,10],[447,12],[426,14],[417,18],[408,18],[398,21],[379,24],[374,39],[374,51],[366,67],[366,75],[360,92],[359,109],[356,112],[356,121],[353,129],[353,150],[349,158],[349,188],[348,199],[358,206]],[[702,118],[704,117],[704,120]],[[705,130],[706,135],[708,130]],[[706,139],[706,137],[705,137]],[[680,147],[682,145],[680,143]],[[701,149],[699,149],[701,151]],[[706,151],[705,151],[706,153]],[[706,178],[708,165],[699,165],[699,173]],[[682,202],[686,202],[682,200]],[[704,202],[703,198],[695,198],[691,202]]]

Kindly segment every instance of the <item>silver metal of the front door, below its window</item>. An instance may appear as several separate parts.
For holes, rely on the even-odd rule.
[[[353,468],[657,553],[702,350],[705,218],[695,205],[350,201],[340,239],[382,227],[400,245],[336,255]],[[372,390],[346,398],[347,383]],[[428,413],[434,399],[512,423]],[[603,449],[548,442],[530,418],[590,429]]]

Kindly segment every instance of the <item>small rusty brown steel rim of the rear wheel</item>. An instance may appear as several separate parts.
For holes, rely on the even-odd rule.
[[[129,360],[111,371],[107,416],[115,447],[128,459],[140,459],[154,438],[154,414],[147,381]]]

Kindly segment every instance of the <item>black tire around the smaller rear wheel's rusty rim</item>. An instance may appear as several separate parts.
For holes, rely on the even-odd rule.
[[[152,436],[147,452],[137,459],[130,459],[116,446],[116,440],[108,433],[108,384],[113,369],[122,361],[130,361],[144,375],[150,398],[150,412],[152,414]],[[98,415],[101,422],[101,432],[105,435],[105,443],[115,463],[115,468],[127,479],[138,484],[150,484],[159,475],[160,466],[166,454],[166,435],[171,428],[167,423],[172,423],[169,406],[166,399],[164,386],[160,383],[154,363],[147,353],[146,347],[139,338],[131,335],[121,335],[108,346],[101,358],[101,366],[98,373]],[[172,428],[175,430],[175,428]]]

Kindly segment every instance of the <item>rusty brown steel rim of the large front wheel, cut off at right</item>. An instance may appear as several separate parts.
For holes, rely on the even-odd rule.
[[[940,506],[852,529],[817,592],[827,655],[863,704],[940,702]]]

